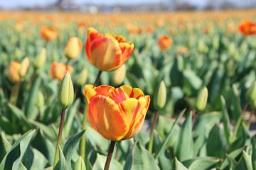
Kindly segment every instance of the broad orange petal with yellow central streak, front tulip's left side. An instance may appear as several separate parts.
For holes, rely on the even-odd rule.
[[[87,118],[97,132],[108,140],[121,140],[129,130],[119,107],[111,98],[97,95],[89,103]]]

